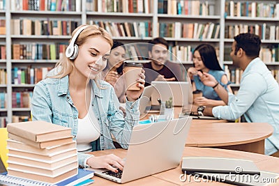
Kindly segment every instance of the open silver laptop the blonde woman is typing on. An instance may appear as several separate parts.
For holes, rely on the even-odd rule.
[[[181,161],[191,123],[192,118],[189,117],[137,125],[131,134],[123,172],[114,175],[106,169],[89,169],[95,171],[96,176],[117,183],[174,169]]]

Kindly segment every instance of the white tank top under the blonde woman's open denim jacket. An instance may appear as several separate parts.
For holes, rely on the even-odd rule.
[[[91,97],[92,98],[92,97]],[[78,118],[77,151],[87,153],[92,150],[91,142],[100,137],[100,126],[90,104],[89,111],[82,119]]]

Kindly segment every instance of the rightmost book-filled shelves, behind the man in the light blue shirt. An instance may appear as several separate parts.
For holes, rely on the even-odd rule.
[[[234,36],[245,32],[260,36],[259,57],[279,82],[279,1],[225,1],[224,65],[235,90],[242,70],[232,65],[229,53]]]

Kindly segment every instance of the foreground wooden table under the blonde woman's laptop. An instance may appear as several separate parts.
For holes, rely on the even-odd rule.
[[[118,155],[119,157],[126,157],[127,150],[123,149],[114,149],[114,150],[103,150],[92,152],[93,155],[106,155],[114,153],[114,155]],[[247,153],[236,150],[225,150],[225,149],[216,149],[216,148],[196,148],[196,147],[185,147],[183,151],[183,157],[228,157],[228,158],[237,158],[243,160],[252,160],[255,162],[259,170],[261,171],[271,171],[274,173],[279,173],[279,158],[271,157],[266,155],[259,155],[256,153]],[[139,160],[144,161],[144,160]],[[136,169],[136,168],[135,168]],[[138,180],[131,181],[129,183],[121,184],[121,185],[227,185],[225,183],[195,183],[195,182],[181,182],[179,180],[179,176],[181,175],[181,164],[175,168],[168,171],[163,171],[161,173],[157,173],[152,176],[148,176],[145,178],[141,178]],[[100,178],[98,176],[94,176],[93,178],[95,183],[93,185],[119,185],[119,183],[114,183],[110,180],[106,180],[104,178]],[[277,183],[272,185],[278,185],[279,179]]]

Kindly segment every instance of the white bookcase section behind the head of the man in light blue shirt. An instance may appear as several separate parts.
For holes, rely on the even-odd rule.
[[[272,5],[276,5],[271,8]],[[255,29],[255,33],[259,36],[262,36],[261,28],[265,25],[266,26],[266,35],[262,36],[262,51],[268,48],[268,52],[272,51],[272,48],[277,48],[276,55],[277,59],[265,59],[263,52],[261,51],[260,57],[266,63],[268,68],[273,72],[273,75],[276,77],[276,80],[279,82],[279,59],[278,59],[278,47],[279,47],[279,1],[225,1],[225,9],[227,10],[225,13],[225,30],[224,34],[225,37],[223,38],[223,46],[226,50],[232,45],[234,41],[232,36],[235,35],[240,28],[242,29]],[[232,5],[234,5],[234,10],[232,10]],[[247,13],[246,8],[254,9],[255,11],[251,10],[253,13]],[[277,9],[276,9],[277,7]],[[234,13],[232,13],[232,11]],[[259,15],[265,14],[265,15]],[[231,29],[228,29],[227,26],[231,26]],[[235,29],[234,27],[237,26],[238,28]],[[246,27],[247,26],[247,27]],[[251,26],[251,27],[250,27]],[[274,26],[274,33],[271,33],[271,26]],[[277,26],[277,28],[276,28]],[[257,27],[259,29],[257,29]],[[273,35],[273,38],[271,37]],[[277,36],[276,36],[277,35]],[[229,49],[228,49],[229,50]],[[226,56],[225,52],[223,64],[227,65],[229,70],[234,71],[235,67],[232,65],[232,61]],[[273,51],[274,53],[274,51]],[[271,56],[275,56],[275,54],[271,54]],[[269,56],[269,55],[268,55]],[[231,72],[232,72],[231,71]],[[232,73],[231,73],[232,75]],[[240,75],[241,76],[241,75]],[[231,85],[233,90],[238,90],[239,82],[236,84]]]

